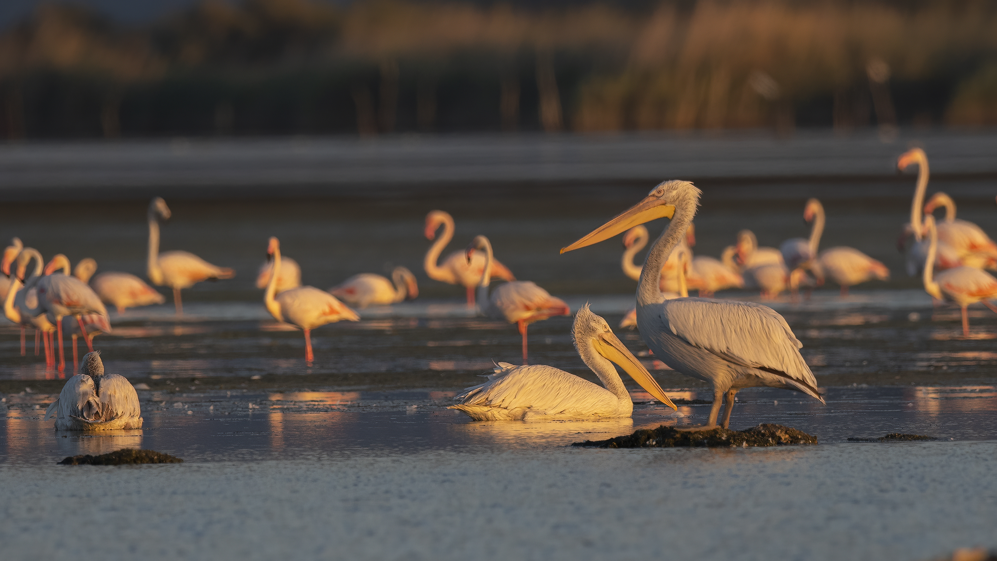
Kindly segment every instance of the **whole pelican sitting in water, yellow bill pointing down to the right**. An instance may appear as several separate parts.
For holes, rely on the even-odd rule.
[[[676,408],[640,360],[613,334],[605,319],[588,309],[588,304],[575,314],[571,334],[581,359],[605,387],[553,366],[499,362],[489,381],[465,389],[454,398],[458,403],[449,408],[460,409],[476,420],[629,417],[633,401],[613,362],[655,399]]]

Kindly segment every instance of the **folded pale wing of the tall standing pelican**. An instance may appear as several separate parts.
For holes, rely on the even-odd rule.
[[[821,399],[814,372],[800,354],[803,343],[775,309],[712,298],[666,300],[661,309],[666,327],[689,344],[735,364],[787,376]]]

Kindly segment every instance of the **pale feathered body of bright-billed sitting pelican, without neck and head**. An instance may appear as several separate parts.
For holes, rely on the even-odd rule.
[[[469,414],[469,409],[478,407],[508,412],[495,418],[522,418],[527,413],[563,416],[577,410],[612,411],[617,404],[616,396],[609,390],[564,370],[545,364],[512,366],[505,362],[500,363],[495,374],[489,375],[489,381],[465,389],[454,400],[458,401],[454,408]]]

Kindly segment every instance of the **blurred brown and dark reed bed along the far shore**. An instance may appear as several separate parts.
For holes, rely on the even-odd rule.
[[[997,125],[997,5],[206,1],[0,34],[7,138]]]

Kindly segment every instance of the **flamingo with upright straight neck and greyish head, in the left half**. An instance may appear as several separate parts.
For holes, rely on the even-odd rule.
[[[147,275],[157,286],[173,289],[173,305],[176,314],[183,314],[180,290],[189,288],[200,281],[231,279],[235,271],[227,267],[216,267],[187,252],[160,253],[160,220],[170,216],[166,201],[156,197],[149,204],[149,265]]]

